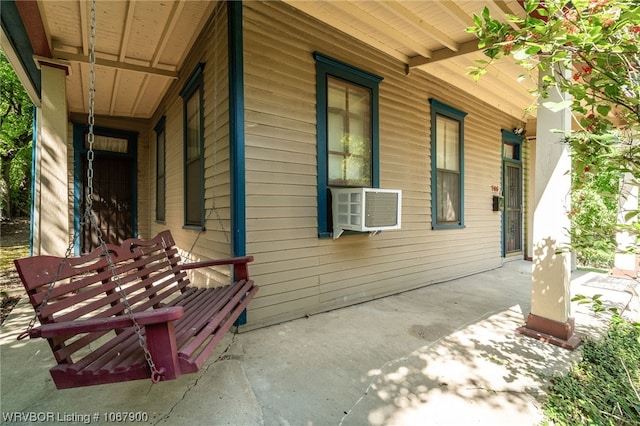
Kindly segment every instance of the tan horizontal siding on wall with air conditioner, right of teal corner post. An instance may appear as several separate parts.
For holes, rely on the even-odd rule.
[[[275,2],[246,2],[247,253],[260,292],[249,327],[501,265],[501,128],[520,124],[420,70]],[[403,190],[402,230],[319,239],[314,51],[384,77],[380,186]],[[464,229],[431,229],[429,98],[465,119]]]

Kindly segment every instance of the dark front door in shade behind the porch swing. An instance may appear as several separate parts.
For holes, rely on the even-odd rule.
[[[81,223],[87,204],[89,187],[87,174],[89,164],[87,133],[81,130],[79,156],[76,161],[76,176],[80,179],[76,188],[80,197],[76,199],[76,226],[79,229],[80,253],[88,253],[100,244],[100,237],[111,244],[120,244],[136,233],[136,136],[129,132],[108,129],[95,131],[93,144],[93,196],[91,222]]]

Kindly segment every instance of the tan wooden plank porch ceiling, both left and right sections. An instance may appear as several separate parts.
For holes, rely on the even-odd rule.
[[[494,16],[522,15],[517,0],[285,0],[339,31],[525,118],[534,82],[517,81],[520,69],[502,62],[479,83],[466,75],[482,56],[465,28],[488,6]],[[71,65],[71,112],[87,112],[89,2],[38,0],[50,53]],[[98,1],[96,113],[149,118],[182,70],[181,64],[214,11],[212,1]]]

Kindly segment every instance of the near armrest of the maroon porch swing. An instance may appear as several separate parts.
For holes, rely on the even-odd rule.
[[[152,311],[134,313],[133,317],[139,326],[144,327],[149,324],[167,323],[182,317],[184,309],[182,306],[171,306],[167,308],[154,309]],[[94,331],[108,331],[118,328],[133,327],[133,321],[129,315],[108,318],[92,318],[87,320],[65,321],[57,323],[43,324],[29,332],[29,337],[60,337],[73,336],[81,333]]]

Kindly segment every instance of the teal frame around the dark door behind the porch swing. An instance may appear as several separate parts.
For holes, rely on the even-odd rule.
[[[133,237],[138,236],[138,133],[126,130],[118,130],[107,127],[94,127],[94,134],[108,136],[113,138],[127,139],[129,146],[127,153],[114,153],[110,151],[94,150],[94,159],[102,158],[123,158],[131,160],[133,167],[129,171],[130,179],[133,182],[133,191],[131,194],[131,227]],[[89,132],[89,126],[86,124],[73,124],[73,234],[74,255],[80,254],[81,232],[80,221],[82,219],[82,194],[85,185],[82,176],[82,160],[86,157],[88,149],[84,146],[84,136]]]

